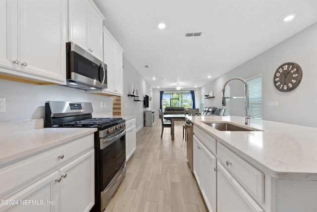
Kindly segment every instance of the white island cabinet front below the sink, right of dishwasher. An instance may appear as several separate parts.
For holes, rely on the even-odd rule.
[[[194,175],[202,192],[207,208],[216,212],[216,157],[194,136]]]

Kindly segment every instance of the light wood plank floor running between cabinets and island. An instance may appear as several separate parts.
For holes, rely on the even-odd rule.
[[[136,151],[106,212],[208,211],[186,160],[183,123],[175,122],[175,141],[169,128],[160,138],[159,119],[137,132]]]

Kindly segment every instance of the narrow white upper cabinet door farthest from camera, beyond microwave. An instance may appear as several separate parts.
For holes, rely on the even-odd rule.
[[[122,50],[114,48],[114,91],[122,95],[123,90]]]

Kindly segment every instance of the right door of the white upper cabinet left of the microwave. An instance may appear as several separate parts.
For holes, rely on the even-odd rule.
[[[19,0],[17,7],[17,50],[12,51],[18,70],[65,81],[65,1]]]

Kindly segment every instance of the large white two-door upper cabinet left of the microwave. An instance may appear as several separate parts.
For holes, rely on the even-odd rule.
[[[65,84],[66,25],[64,0],[1,0],[0,77]]]

